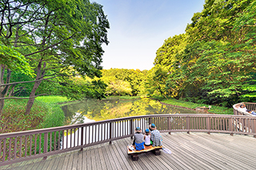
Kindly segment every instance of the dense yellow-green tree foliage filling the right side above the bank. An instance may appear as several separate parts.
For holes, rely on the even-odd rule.
[[[154,64],[170,71],[168,96],[229,107],[253,100],[255,6],[255,0],[206,1],[202,12],[191,18],[186,34],[165,41]]]

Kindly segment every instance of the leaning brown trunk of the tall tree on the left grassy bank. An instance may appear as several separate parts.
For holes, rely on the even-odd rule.
[[[46,68],[46,62],[43,65],[43,69],[45,69],[45,68]],[[42,71],[42,60],[41,60],[38,63],[38,73],[37,73],[36,80],[43,79],[44,73],[45,72]],[[29,99],[29,101],[26,104],[26,113],[25,113],[25,115],[30,114],[31,108],[34,105],[35,92],[37,91],[37,89],[38,89],[39,85],[41,84],[41,82],[42,81],[34,82],[33,89],[31,90],[31,93],[30,93],[30,99]]]

